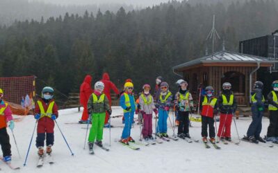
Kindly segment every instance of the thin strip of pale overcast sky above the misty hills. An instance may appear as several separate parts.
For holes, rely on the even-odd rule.
[[[1,1],[1,0],[0,0]],[[45,3],[55,3],[62,5],[88,5],[100,3],[126,3],[133,6],[152,6],[169,0],[29,0],[29,1],[44,1]]]

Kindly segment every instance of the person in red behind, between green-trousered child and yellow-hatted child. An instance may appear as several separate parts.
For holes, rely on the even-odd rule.
[[[117,95],[120,95],[120,91],[117,89],[117,87],[115,86],[115,84],[114,84],[113,82],[111,82],[108,73],[104,73],[104,74],[102,75],[102,80],[100,80],[100,81],[104,83],[104,94],[105,94],[106,97],[108,98],[109,104],[110,104],[110,107],[111,107],[111,95],[110,95],[110,90],[113,89],[113,91],[114,91]],[[108,114],[107,111],[106,111],[104,127],[109,127],[108,119],[109,119],[109,114]],[[112,126],[111,126],[111,127],[112,127]]]

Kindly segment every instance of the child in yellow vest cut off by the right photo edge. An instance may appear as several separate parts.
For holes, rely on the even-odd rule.
[[[270,125],[268,126],[266,140],[278,141],[278,80],[272,82],[272,88],[273,90],[268,93],[268,111],[270,113]]]

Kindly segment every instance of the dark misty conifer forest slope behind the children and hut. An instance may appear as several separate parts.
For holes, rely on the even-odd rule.
[[[0,76],[36,75],[63,93],[79,91],[85,74],[96,82],[103,72],[117,86],[131,78],[136,92],[142,84],[154,86],[158,75],[173,86],[179,77],[172,66],[201,57],[206,46],[211,52],[205,39],[213,14],[227,51],[238,51],[238,41],[278,28],[277,7],[270,0],[172,1],[142,10],[16,21],[0,27]],[[222,40],[216,43],[220,50]]]

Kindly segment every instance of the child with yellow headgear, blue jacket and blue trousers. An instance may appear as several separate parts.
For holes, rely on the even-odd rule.
[[[131,125],[134,112],[136,111],[136,102],[132,91],[133,84],[131,82],[126,82],[124,84],[124,93],[122,93],[120,97],[120,106],[124,109],[124,129],[120,142],[126,145],[129,145],[129,142],[135,142],[133,138],[131,138]]]

